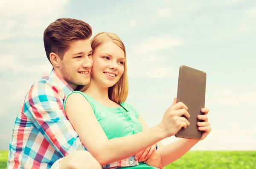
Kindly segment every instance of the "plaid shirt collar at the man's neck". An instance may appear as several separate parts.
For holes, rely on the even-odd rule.
[[[62,89],[64,94],[67,96],[70,92],[73,91],[72,87],[57,73],[54,69],[52,69],[49,74],[49,78],[51,78],[55,83],[57,83],[58,87]]]

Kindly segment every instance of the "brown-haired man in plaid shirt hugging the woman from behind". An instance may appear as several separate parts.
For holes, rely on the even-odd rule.
[[[49,169],[58,159],[62,160],[55,168],[101,168],[84,151],[63,107],[69,92],[90,82],[91,35],[87,23],[69,18],[58,19],[45,29],[44,47],[53,69],[33,84],[20,107],[9,145],[8,169]]]

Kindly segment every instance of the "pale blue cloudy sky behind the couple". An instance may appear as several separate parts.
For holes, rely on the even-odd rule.
[[[50,5],[50,6],[49,6]],[[212,132],[194,150],[256,150],[256,2],[0,1],[0,149],[32,83],[51,65],[44,29],[60,17],[114,32],[128,58],[127,102],[151,127],[177,94],[180,65],[207,73],[205,106]],[[164,144],[177,138],[169,137]]]

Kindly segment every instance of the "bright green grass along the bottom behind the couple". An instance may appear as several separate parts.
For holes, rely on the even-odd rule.
[[[0,151],[0,169],[7,169],[8,151]],[[256,151],[189,151],[165,169],[256,169]]]

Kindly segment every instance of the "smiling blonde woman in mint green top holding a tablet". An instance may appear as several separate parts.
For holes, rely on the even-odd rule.
[[[81,92],[74,91],[67,95],[64,106],[81,142],[103,168],[108,163],[133,155],[136,155],[135,160],[144,161],[137,163],[133,169],[162,168],[198,143],[199,140],[180,139],[163,146],[160,140],[175,135],[182,127],[189,125],[186,118],[181,117],[189,117],[186,105],[176,103],[175,98],[161,123],[148,129],[140,113],[125,103],[128,78],[122,41],[116,34],[101,32],[92,38],[91,46],[93,68],[90,84],[83,86]],[[204,120],[198,123],[198,129],[204,131],[202,140],[209,134],[211,127],[207,118],[209,109],[203,108],[201,111],[205,113],[198,116],[198,119]],[[155,143],[159,148],[154,152]],[[148,166],[152,152],[159,153],[160,166]]]

